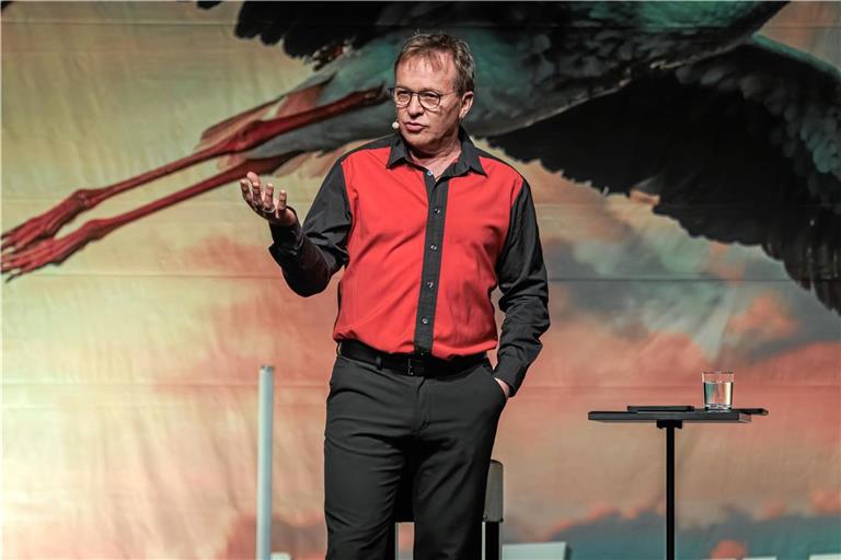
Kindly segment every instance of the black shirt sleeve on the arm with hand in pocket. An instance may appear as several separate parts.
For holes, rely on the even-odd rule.
[[[531,188],[523,180],[511,207],[508,237],[496,262],[496,277],[505,313],[494,375],[511,387],[522,385],[531,362],[540,353],[540,336],[549,329],[549,287]]]

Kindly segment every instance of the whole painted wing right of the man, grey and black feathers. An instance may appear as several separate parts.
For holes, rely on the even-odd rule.
[[[761,37],[488,139],[692,236],[759,245],[841,313],[841,75]]]

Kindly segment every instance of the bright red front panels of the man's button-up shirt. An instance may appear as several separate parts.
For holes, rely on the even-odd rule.
[[[491,292],[522,178],[482,158],[485,175],[465,167],[435,182],[407,162],[389,166],[390,154],[388,147],[358,150],[341,163],[353,225],[334,338],[384,352],[423,351],[415,330],[431,323],[431,353],[438,358],[495,348]],[[436,189],[447,196],[430,206],[440,198],[430,197]],[[436,221],[443,222],[442,240],[427,246],[427,226]],[[436,253],[439,269],[425,271],[425,258]],[[425,290],[437,292],[435,311],[418,317]]]

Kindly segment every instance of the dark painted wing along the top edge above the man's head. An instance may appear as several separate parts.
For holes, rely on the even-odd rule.
[[[197,2],[211,9],[220,1]],[[438,31],[489,27],[503,33],[543,33],[549,38],[544,55],[553,60],[568,51],[573,32],[576,48],[595,45],[591,60],[607,55],[657,61],[683,59],[708,48],[728,48],[724,37],[750,33],[785,2],[266,2],[245,0],[238,14],[235,35],[258,37],[265,45],[283,42],[285,51],[315,61],[316,69],[346,48],[359,49],[394,30]],[[726,23],[725,23],[726,22]],[[634,36],[635,40],[627,40]],[[688,43],[687,39],[691,40]],[[620,40],[621,39],[621,40]],[[703,43],[708,43],[706,48]],[[693,45],[693,51],[680,52]],[[614,51],[622,46],[621,51]]]

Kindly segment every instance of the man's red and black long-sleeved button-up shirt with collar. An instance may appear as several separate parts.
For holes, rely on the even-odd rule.
[[[399,133],[344,154],[303,226],[272,226],[289,287],[323,291],[343,266],[335,340],[451,359],[496,347],[495,375],[516,393],[549,328],[546,270],[529,185],[461,131],[437,179]]]

